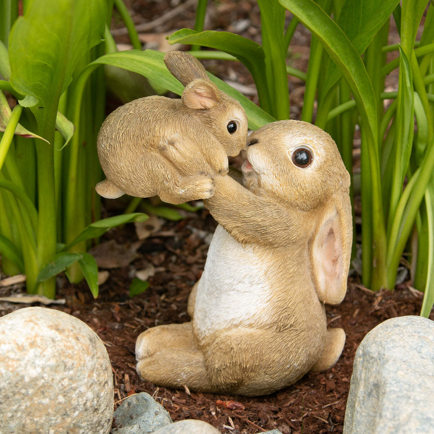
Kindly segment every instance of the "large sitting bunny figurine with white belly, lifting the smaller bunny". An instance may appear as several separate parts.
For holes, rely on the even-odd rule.
[[[335,142],[306,122],[253,132],[243,183],[214,177],[219,222],[191,322],[139,335],[137,371],[156,385],[265,395],[330,368],[344,343],[324,303],[342,301],[352,243],[350,178]]]

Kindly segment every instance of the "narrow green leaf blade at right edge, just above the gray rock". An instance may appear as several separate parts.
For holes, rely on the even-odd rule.
[[[434,177],[432,176],[425,191],[425,204],[428,217],[428,273],[421,316],[428,318],[434,304]]]

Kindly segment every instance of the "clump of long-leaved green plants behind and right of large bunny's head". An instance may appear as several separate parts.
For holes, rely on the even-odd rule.
[[[182,29],[168,37],[171,43],[207,46],[224,52],[216,57],[243,62],[261,107],[284,119],[289,117],[286,73],[303,77],[285,65],[286,50],[296,24],[306,26],[312,42],[301,118],[314,121],[316,101],[315,123],[335,139],[352,178],[356,124],[361,131],[362,281],[374,290],[393,289],[412,236],[412,272],[414,285],[425,291],[424,316],[434,302],[434,7],[427,4],[404,0],[401,10],[398,0],[258,1],[262,46],[228,32]],[[285,9],[294,16],[286,32]],[[424,31],[415,41],[425,9]],[[392,15],[401,43],[387,46]],[[392,50],[399,50],[399,59],[386,63]],[[397,67],[398,92],[384,92],[385,76]],[[383,99],[395,100],[386,111]]]

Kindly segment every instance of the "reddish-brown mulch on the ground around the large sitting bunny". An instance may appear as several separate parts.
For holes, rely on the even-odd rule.
[[[404,283],[395,292],[372,293],[357,278],[349,279],[349,288],[339,306],[327,306],[330,326],[342,327],[347,335],[345,348],[329,371],[308,373],[296,384],[272,395],[247,398],[175,391],[144,383],[135,372],[135,340],[155,325],[185,322],[187,297],[191,286],[201,276],[207,244],[197,228],[212,232],[215,222],[206,210],[179,222],[167,222],[159,232],[143,240],[138,257],[130,266],[109,270],[110,276],[94,300],[85,283],[71,285],[64,276],[58,278],[57,298],[66,305],[53,306],[88,324],[102,339],[113,368],[115,408],[128,395],[148,392],[160,402],[173,421],[200,419],[222,433],[253,434],[279,429],[288,433],[341,433],[349,391],[355,350],[366,333],[385,319],[418,315],[421,295]],[[107,233],[106,240],[136,242],[132,224]],[[129,298],[128,288],[135,270],[153,264],[157,272],[149,278],[145,293]],[[1,296],[17,291],[0,288]],[[38,303],[34,303],[38,306]],[[0,302],[0,316],[23,307]],[[434,319],[434,315],[431,315]]]

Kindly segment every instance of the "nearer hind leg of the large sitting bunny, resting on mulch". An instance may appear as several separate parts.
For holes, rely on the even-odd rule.
[[[166,348],[142,358],[136,370],[144,381],[155,385],[191,391],[213,393],[203,354],[198,350]]]

